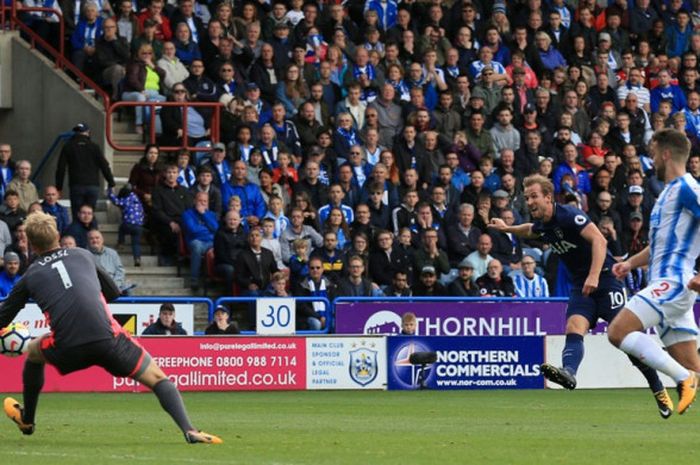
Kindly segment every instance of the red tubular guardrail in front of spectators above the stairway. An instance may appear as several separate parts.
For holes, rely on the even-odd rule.
[[[107,125],[105,128],[106,136],[107,136],[107,143],[114,149],[118,150],[121,152],[143,152],[145,150],[145,146],[143,145],[118,145],[113,139],[112,139],[112,114],[119,108],[121,107],[150,107],[151,108],[151,114],[150,114],[150,124],[149,126],[149,131],[148,131],[148,142],[150,143],[155,143],[156,142],[156,112],[155,112],[155,107],[199,107],[199,108],[213,108],[214,109],[214,114],[211,116],[211,124],[209,125],[210,127],[210,136],[209,139],[213,143],[216,143],[219,141],[219,130],[220,130],[220,121],[221,121],[221,109],[223,108],[223,104],[219,102],[115,102],[113,103],[110,107],[107,108]],[[182,145],[179,146],[163,146],[160,147],[162,151],[174,151],[174,150],[180,150],[180,149],[187,149],[191,152],[196,152],[196,151],[209,151],[211,150],[209,147],[197,147],[197,146],[189,146],[187,144],[188,142],[188,135],[187,135],[187,112],[183,112],[183,117],[182,117]]]

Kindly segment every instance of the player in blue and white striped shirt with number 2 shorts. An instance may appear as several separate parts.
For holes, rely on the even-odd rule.
[[[690,142],[675,129],[662,129],[651,139],[656,173],[666,183],[651,213],[649,246],[615,264],[622,278],[633,268],[649,265],[649,285],[635,295],[608,328],[612,344],[667,374],[678,386],[677,412],[695,400],[700,357],[693,303],[700,290],[694,277],[700,253],[700,185],[686,173]],[[643,332],[655,327],[664,351]]]

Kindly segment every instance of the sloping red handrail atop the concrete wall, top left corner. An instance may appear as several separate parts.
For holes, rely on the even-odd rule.
[[[73,63],[70,62],[65,56],[64,56],[64,49],[63,49],[63,42],[64,42],[64,31],[65,31],[65,23],[63,21],[63,15],[60,13],[56,12],[53,8],[44,8],[44,7],[30,7],[30,8],[20,8],[19,10],[15,6],[15,2],[12,2],[11,7],[7,6],[2,6],[2,20],[3,24],[4,21],[6,20],[6,10],[11,10],[11,15],[10,15],[10,22],[12,23],[13,28],[17,28],[20,31],[24,32],[29,36],[31,42],[32,48],[37,48],[36,44],[39,44],[41,48],[51,55],[56,63],[56,68],[65,71],[66,69],[69,70],[75,77],[78,79],[78,84],[80,86],[80,90],[84,90],[86,87],[92,89],[96,95],[99,95],[102,98],[102,104],[107,110],[109,108],[110,100],[109,100],[109,95],[102,90],[100,86],[98,86],[92,79],[87,77],[81,70],[79,70]],[[59,17],[59,23],[60,23],[60,51],[57,51],[53,45],[49,44],[46,42],[39,34],[34,32],[29,26],[24,24],[18,17],[17,17],[17,11],[21,12],[27,12],[27,11],[49,11],[55,14],[56,16]]]

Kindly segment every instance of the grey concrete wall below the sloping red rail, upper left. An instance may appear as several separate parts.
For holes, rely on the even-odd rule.
[[[0,141],[10,143],[13,159],[37,166],[57,135],[77,122],[87,123],[92,139],[111,163],[113,153],[105,137],[105,114],[91,93],[56,70],[52,61],[31,49],[17,33],[0,34],[0,91],[10,87],[9,106],[0,110]],[[38,182],[54,182],[58,156],[44,167]]]

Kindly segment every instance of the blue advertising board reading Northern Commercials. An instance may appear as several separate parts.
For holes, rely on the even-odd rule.
[[[428,389],[543,389],[544,337],[387,338],[388,389],[418,388],[421,367],[409,361],[415,352],[435,352],[426,367]]]

